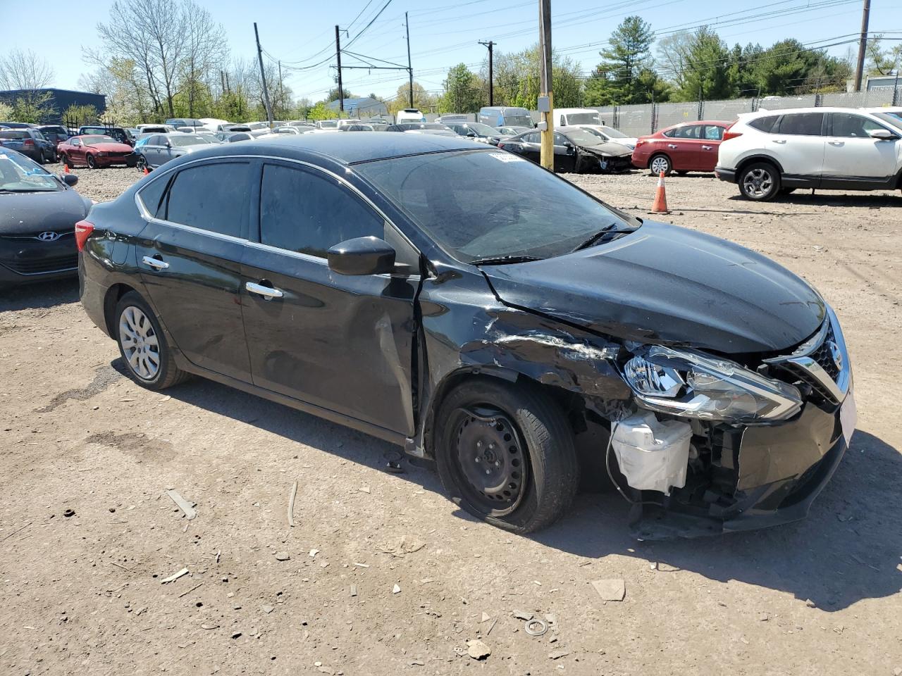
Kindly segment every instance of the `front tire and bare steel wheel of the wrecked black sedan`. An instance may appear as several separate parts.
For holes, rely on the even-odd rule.
[[[437,414],[438,476],[470,514],[515,533],[557,521],[573,502],[579,464],[557,404],[530,383],[466,381]]]

